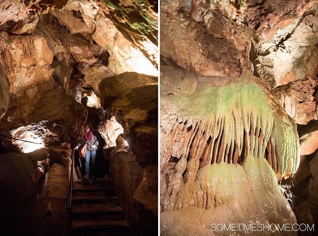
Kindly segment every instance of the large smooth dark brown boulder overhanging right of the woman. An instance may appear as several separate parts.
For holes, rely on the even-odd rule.
[[[124,128],[122,135],[138,162],[157,161],[158,78],[123,73],[100,82],[101,105],[109,109]]]

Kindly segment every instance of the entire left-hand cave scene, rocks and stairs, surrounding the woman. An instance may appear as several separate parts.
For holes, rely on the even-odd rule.
[[[1,232],[156,233],[158,2],[3,0],[0,35]],[[72,187],[86,121],[97,180],[75,152]]]

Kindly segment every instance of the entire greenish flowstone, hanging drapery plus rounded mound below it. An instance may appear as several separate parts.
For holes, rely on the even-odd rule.
[[[218,223],[296,223],[277,179],[296,172],[299,138],[265,83],[248,72],[161,72],[161,232],[204,235]]]

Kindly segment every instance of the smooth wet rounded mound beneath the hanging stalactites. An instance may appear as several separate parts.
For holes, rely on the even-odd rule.
[[[224,227],[236,224],[233,222],[241,224],[241,228],[235,228],[235,231],[273,235],[268,229],[254,231],[244,228],[243,224],[249,226],[255,222],[255,226],[259,223],[263,229],[263,224],[268,227],[277,223],[296,223],[295,215],[277,185],[276,176],[264,158],[254,159],[248,155],[243,166],[224,162],[207,165],[200,169],[197,181],[183,185],[177,195],[175,210],[161,213],[160,232],[163,235],[211,232],[212,235],[221,232],[231,235],[234,230]],[[216,228],[218,224],[222,226],[218,226],[219,230]],[[297,233],[281,231],[280,235]]]

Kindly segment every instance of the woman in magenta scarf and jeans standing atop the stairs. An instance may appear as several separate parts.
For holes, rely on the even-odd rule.
[[[100,140],[96,130],[92,128],[91,123],[86,122],[84,125],[84,129],[85,129],[84,140],[86,143],[84,179],[88,180],[89,178],[91,178],[92,180],[96,180],[95,163],[96,163],[97,148],[100,143]],[[79,146],[81,146],[80,143],[77,144],[74,150],[77,150]]]

